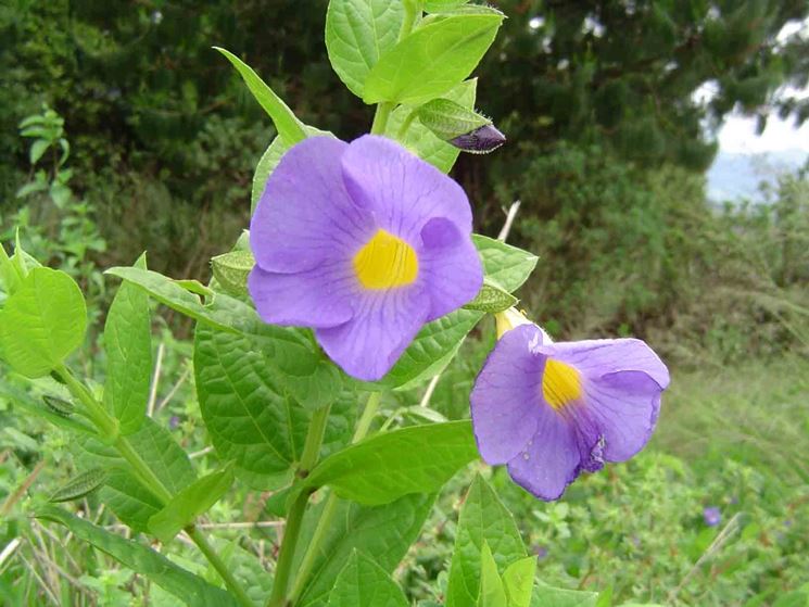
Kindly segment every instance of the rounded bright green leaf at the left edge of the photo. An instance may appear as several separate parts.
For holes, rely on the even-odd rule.
[[[17,372],[42,377],[81,344],[87,307],[63,271],[33,268],[0,311],[0,353]]]

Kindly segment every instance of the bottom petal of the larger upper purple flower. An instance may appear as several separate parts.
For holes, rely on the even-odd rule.
[[[364,293],[354,317],[339,327],[317,329],[326,354],[350,376],[376,381],[387,374],[425,324],[427,293],[417,286]]]

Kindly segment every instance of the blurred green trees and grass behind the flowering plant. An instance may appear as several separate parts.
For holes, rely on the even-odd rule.
[[[775,116],[809,117],[807,27],[779,37],[807,18],[809,4],[494,4],[508,20],[475,74],[478,108],[509,141],[489,156],[463,155],[453,172],[476,229],[496,236],[519,199],[508,240],[541,257],[519,293],[530,316],[559,339],[646,339],[673,377],[650,447],[579,481],[562,502],[535,502],[494,473],[543,576],[612,589],[623,600],[809,605],[800,590],[809,582],[807,167],[772,175],[756,200],[706,193],[716,132],[731,112],[760,129]],[[210,257],[247,227],[253,168],[275,135],[211,47],[244,59],[305,123],[351,139],[368,130],[372,109],[331,71],[326,5],[3,2],[0,241],[21,226],[29,252],[81,282],[97,319],[109,301],[101,268],[131,264],[143,250],[153,269],[206,280]],[[706,84],[713,94],[695,98]],[[166,315],[159,330],[155,418],[202,450],[190,327]],[[441,415],[468,415],[490,331],[477,331],[437,383],[431,403]],[[80,364],[92,375],[101,361],[90,345]],[[408,415],[422,395],[389,396],[387,414]],[[0,533],[7,547],[23,540],[0,557],[0,598],[170,605],[26,518],[26,491],[47,494],[73,464],[53,455],[64,437],[13,409],[0,397]],[[414,598],[440,597],[467,482],[456,479],[442,497],[399,572]],[[104,516],[92,498],[84,507]],[[706,507],[719,508],[719,524],[708,524]],[[269,516],[240,494],[217,508],[231,522]],[[270,528],[222,533],[260,559],[271,556]],[[61,543],[69,551],[61,554]]]

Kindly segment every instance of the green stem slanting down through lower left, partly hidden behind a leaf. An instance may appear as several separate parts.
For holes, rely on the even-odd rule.
[[[151,491],[161,503],[168,503],[173,495],[168,491],[165,484],[157,478],[152,469],[143,461],[143,458],[132,446],[126,437],[118,435],[118,423],[117,420],[112,417],[104,409],[103,405],[99,403],[96,397],[90,393],[89,390],[75,377],[64,365],[55,369],[56,374],[64,380],[67,389],[71,391],[76,399],[78,399],[83,405],[85,405],[87,416],[96,425],[102,437],[113,439],[112,445],[118,452],[118,454],[131,466],[132,472],[140,483]],[[227,584],[230,592],[233,593],[236,598],[243,607],[255,607],[253,602],[250,600],[244,589],[242,589],[236,579],[232,577],[230,571],[227,569],[225,564],[216,554],[213,546],[207,543],[205,538],[197,530],[193,524],[186,530],[193,540],[194,544],[200,548],[200,552],[211,562],[211,565],[222,576],[223,581]]]

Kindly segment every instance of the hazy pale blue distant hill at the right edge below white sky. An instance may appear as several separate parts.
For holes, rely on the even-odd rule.
[[[720,151],[708,169],[708,198],[761,200],[761,181],[774,181],[778,174],[797,169],[807,157],[809,152],[797,148],[758,154]]]

